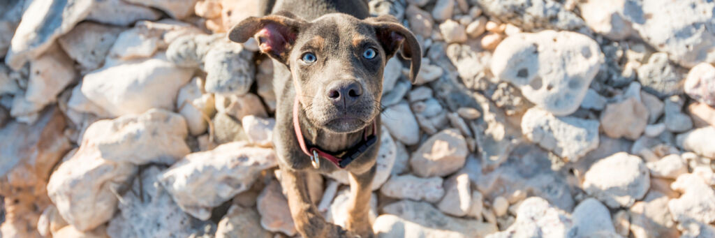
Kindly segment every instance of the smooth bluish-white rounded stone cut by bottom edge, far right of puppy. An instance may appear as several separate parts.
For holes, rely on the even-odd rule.
[[[608,237],[619,237],[611,222],[611,213],[601,202],[593,198],[583,200],[571,214],[576,237],[602,237],[597,234],[609,234]]]

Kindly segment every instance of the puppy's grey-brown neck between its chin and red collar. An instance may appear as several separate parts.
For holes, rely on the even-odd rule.
[[[312,144],[326,152],[340,152],[349,149],[363,140],[363,130],[352,133],[335,133],[326,129],[321,129],[311,124],[305,117],[305,111],[300,110],[298,114],[300,131],[307,144]]]

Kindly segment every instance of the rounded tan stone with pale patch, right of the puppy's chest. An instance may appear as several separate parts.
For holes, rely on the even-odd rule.
[[[445,176],[463,167],[467,144],[455,129],[433,135],[412,154],[410,167],[420,177]]]

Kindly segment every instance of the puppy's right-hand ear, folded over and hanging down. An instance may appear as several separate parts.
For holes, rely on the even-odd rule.
[[[402,56],[405,59],[410,59],[410,80],[415,82],[422,62],[422,49],[420,49],[420,44],[415,38],[415,34],[412,34],[405,26],[398,23],[394,16],[371,17],[365,19],[365,21],[375,27],[375,34],[377,34],[380,44],[385,49],[388,59],[395,55],[395,52],[402,46]]]

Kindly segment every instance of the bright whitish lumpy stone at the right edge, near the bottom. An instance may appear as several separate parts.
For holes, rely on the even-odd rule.
[[[701,177],[682,174],[671,184],[671,188],[682,194],[668,202],[674,221],[694,219],[705,224],[715,222],[715,190]]]

